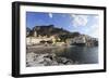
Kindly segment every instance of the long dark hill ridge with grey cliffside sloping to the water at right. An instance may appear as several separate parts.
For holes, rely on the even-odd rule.
[[[88,45],[95,47],[98,45],[98,39],[92,38],[87,35],[82,35],[80,32],[70,32],[62,28],[57,28],[53,25],[48,26],[35,26],[32,30],[26,28],[26,36],[47,36],[47,37],[58,37],[62,42],[74,44],[74,45]]]

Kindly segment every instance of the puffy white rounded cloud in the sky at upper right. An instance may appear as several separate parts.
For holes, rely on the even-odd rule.
[[[72,14],[72,24],[74,27],[78,27],[78,26],[86,26],[88,18],[86,15],[75,15]]]

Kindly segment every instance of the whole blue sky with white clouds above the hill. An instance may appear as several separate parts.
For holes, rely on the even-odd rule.
[[[55,25],[71,32],[98,38],[99,16],[96,14],[26,12],[26,27]]]

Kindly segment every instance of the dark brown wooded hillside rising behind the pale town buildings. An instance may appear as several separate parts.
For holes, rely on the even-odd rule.
[[[53,25],[48,25],[48,26],[35,26],[32,30],[27,27],[26,32],[28,34],[27,36],[34,36],[34,32],[37,32],[37,35],[40,36],[66,36],[66,37],[75,37],[78,36],[80,32],[70,32],[68,30],[64,30],[62,28],[57,28]]]

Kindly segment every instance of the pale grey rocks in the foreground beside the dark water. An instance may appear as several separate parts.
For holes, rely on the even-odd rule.
[[[73,62],[72,60],[57,56],[55,53],[36,54],[34,52],[27,53],[26,55],[26,66],[53,66],[53,65],[72,65],[78,62]]]

